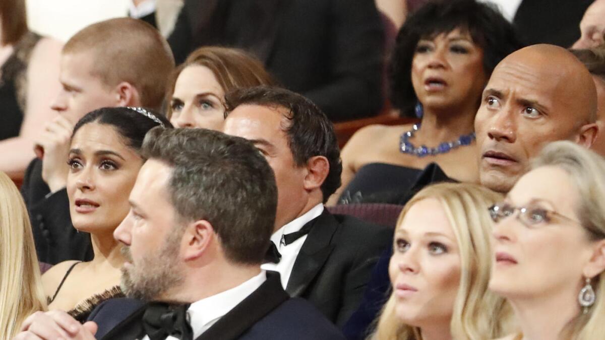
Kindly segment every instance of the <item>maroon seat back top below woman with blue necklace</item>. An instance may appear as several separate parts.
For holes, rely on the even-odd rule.
[[[352,203],[327,208],[332,214],[351,215],[360,220],[394,228],[404,206],[386,203]]]

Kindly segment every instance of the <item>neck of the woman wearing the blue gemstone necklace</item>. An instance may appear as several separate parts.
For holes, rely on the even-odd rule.
[[[436,108],[424,108],[420,131],[414,137],[428,144],[451,142],[458,137],[474,131],[476,108],[463,111]]]

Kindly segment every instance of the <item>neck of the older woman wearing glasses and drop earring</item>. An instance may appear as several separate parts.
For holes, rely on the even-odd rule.
[[[555,294],[534,299],[509,299],[523,340],[558,339],[567,323],[580,314],[574,294],[562,291]]]

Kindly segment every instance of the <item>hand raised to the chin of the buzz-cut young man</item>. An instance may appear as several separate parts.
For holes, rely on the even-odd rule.
[[[47,123],[42,136],[36,141],[36,153],[40,156],[43,149],[42,179],[47,183],[51,192],[65,188],[67,184],[67,159],[70,151],[71,132],[73,124],[63,116],[57,116]]]

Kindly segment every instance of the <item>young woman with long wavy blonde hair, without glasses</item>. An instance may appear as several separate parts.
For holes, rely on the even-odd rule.
[[[393,291],[376,340],[484,340],[505,334],[509,307],[488,291],[491,225],[502,197],[477,185],[442,183],[402,211],[389,275]]]

